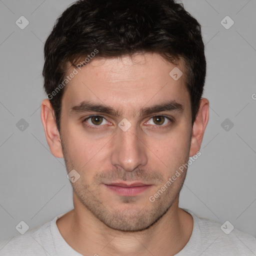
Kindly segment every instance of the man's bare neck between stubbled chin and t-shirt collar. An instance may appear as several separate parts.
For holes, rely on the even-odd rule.
[[[83,255],[174,255],[188,242],[192,216],[178,207],[178,197],[168,211],[149,228],[123,232],[98,220],[79,201],[74,209],[57,220],[65,241]]]

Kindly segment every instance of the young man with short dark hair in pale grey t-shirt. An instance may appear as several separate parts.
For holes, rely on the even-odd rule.
[[[44,54],[41,120],[74,208],[0,255],[256,254],[254,237],[178,207],[209,107],[200,25],[182,5],[77,1]]]

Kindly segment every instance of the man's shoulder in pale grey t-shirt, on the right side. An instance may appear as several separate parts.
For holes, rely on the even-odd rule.
[[[215,255],[256,255],[256,238],[236,229],[232,223],[225,221],[220,224],[217,221],[199,217],[188,211],[196,222],[199,230],[198,243],[202,251],[214,252]],[[237,254],[236,254],[237,253]],[[213,254],[212,254],[213,255]]]

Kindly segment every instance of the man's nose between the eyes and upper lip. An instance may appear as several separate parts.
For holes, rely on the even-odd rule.
[[[132,171],[147,163],[146,146],[136,127],[131,126],[126,131],[117,129],[112,141],[111,163],[125,171]]]

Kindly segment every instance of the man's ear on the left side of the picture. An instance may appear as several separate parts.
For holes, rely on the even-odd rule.
[[[44,99],[41,103],[41,121],[51,153],[55,157],[63,157],[54,111],[48,99]]]

